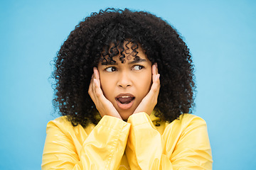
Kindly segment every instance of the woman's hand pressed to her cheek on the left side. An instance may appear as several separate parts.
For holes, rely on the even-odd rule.
[[[122,119],[113,104],[105,98],[102,89],[100,88],[100,74],[96,67],[93,68],[88,94],[92,98],[92,101],[95,103],[95,106],[102,117],[104,115],[111,115]]]

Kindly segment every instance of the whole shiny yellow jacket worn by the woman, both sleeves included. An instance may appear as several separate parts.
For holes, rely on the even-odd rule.
[[[48,123],[42,169],[212,169],[206,122],[183,114],[156,125],[154,114],[126,122],[105,115],[73,127],[65,116]]]

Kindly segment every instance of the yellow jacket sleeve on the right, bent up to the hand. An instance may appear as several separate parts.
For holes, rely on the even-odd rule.
[[[130,116],[128,123],[131,123],[131,128],[125,150],[130,168],[212,169],[206,123],[199,117],[195,118],[198,120],[191,120],[177,135],[178,141],[174,144],[164,142],[146,113]],[[166,149],[171,147],[174,147],[171,152]]]

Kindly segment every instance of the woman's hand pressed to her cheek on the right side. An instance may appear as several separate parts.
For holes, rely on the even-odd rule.
[[[157,98],[160,90],[160,74],[158,74],[157,64],[154,63],[152,65],[152,85],[149,93],[142,99],[142,102],[136,108],[134,113],[145,112],[147,114],[151,114],[154,110],[154,107],[157,103]]]

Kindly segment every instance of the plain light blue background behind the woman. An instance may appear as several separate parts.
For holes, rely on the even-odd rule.
[[[75,25],[100,8],[151,11],[184,37],[196,64],[194,114],[208,124],[213,169],[256,167],[255,1],[1,1],[0,169],[41,169],[54,119],[50,73]]]

